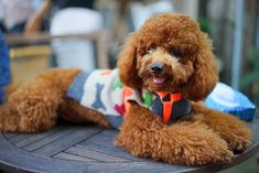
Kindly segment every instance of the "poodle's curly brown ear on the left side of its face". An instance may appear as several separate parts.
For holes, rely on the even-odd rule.
[[[131,88],[141,88],[142,80],[137,71],[137,40],[136,33],[126,41],[117,63],[121,82]]]

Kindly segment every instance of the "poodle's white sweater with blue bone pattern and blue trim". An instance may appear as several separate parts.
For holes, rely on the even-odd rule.
[[[72,83],[67,97],[79,101],[87,108],[101,112],[115,128],[120,127],[126,112],[126,104],[130,100],[160,116],[162,110],[161,99],[158,95],[145,89],[138,90],[123,86],[117,69],[96,69],[90,73],[79,73]],[[190,112],[190,108],[185,108],[185,99],[181,99],[174,105],[172,110],[176,112],[174,117],[182,117]]]

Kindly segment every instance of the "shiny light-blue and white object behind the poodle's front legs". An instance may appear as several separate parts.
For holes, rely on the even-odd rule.
[[[245,95],[223,83],[216,85],[206,98],[205,105],[246,121],[251,121],[256,117],[256,106]]]

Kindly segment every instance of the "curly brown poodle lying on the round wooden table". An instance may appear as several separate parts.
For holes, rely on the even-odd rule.
[[[98,73],[112,76],[117,69]],[[122,87],[117,77],[115,85],[122,88],[122,93],[128,90],[141,95],[148,90],[154,97],[163,91],[177,94],[191,102],[187,115],[174,119],[172,125],[168,121],[163,123],[160,116],[139,102],[141,97],[128,99],[126,113],[120,107],[126,105],[117,105],[116,110],[121,108],[123,122],[115,143],[132,154],[174,164],[201,165],[229,162],[233,151],[249,147],[250,131],[245,123],[230,115],[211,110],[199,101],[216,85],[217,68],[211,41],[191,18],[163,13],[149,19],[126,42],[119,55],[118,74],[127,86]],[[85,83],[87,85],[78,90],[71,87],[75,80],[86,76],[89,84]],[[80,100],[88,101],[95,97],[91,91],[80,99],[67,96],[67,93],[74,93],[77,97],[77,93],[87,90],[85,87],[97,78],[78,69],[53,69],[24,83],[10,94],[7,104],[0,108],[1,131],[47,130],[55,126],[57,115],[66,120],[91,121],[110,128],[111,116],[102,116],[110,108],[101,102],[91,104],[98,111],[83,106]],[[96,97],[102,97],[100,90],[105,86],[95,84]],[[121,100],[118,95],[109,99],[110,102]],[[173,108],[179,108],[176,102]]]

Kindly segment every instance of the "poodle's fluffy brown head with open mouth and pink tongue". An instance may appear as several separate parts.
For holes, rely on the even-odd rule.
[[[162,13],[132,33],[119,54],[121,82],[132,88],[204,99],[215,87],[212,43],[185,14]]]

